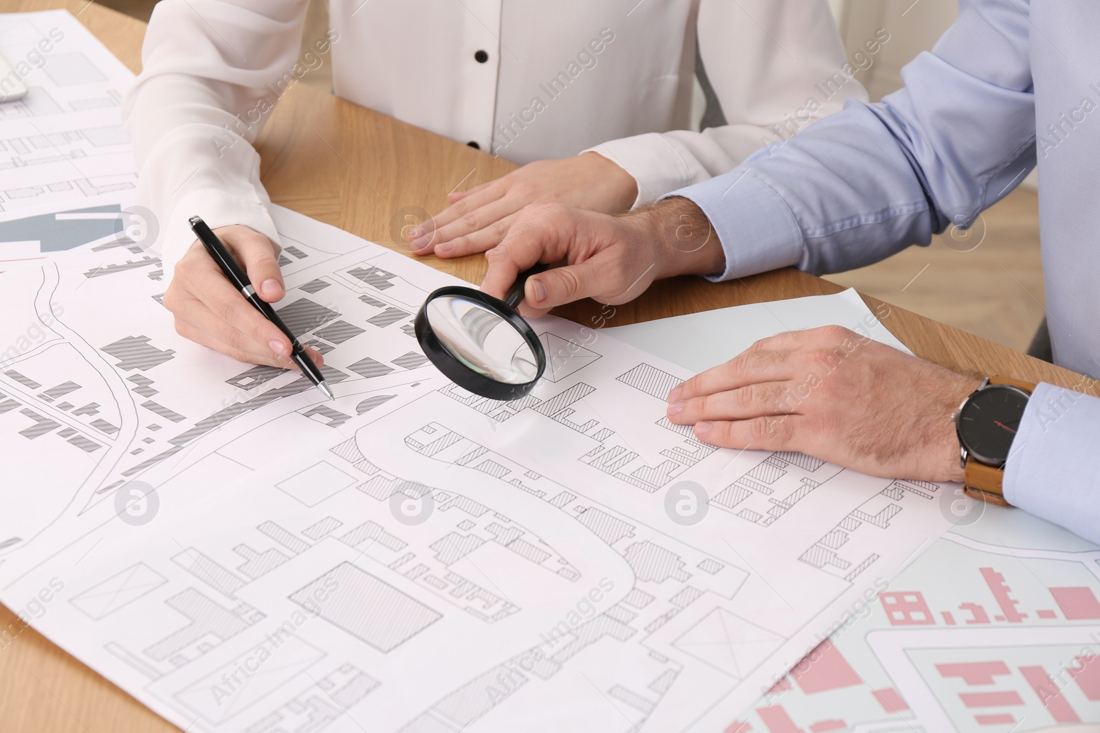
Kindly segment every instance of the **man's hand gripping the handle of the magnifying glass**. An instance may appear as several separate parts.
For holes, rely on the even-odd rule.
[[[528,207],[485,257],[482,290],[497,298],[536,263],[561,265],[527,280],[519,312],[528,318],[581,298],[625,303],[656,279],[721,271],[725,264],[711,223],[683,198],[619,216],[553,203]]]

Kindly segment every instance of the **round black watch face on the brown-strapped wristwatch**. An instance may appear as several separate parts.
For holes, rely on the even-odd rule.
[[[1027,392],[1016,387],[991,385],[967,400],[959,411],[958,434],[976,460],[1004,465],[1027,398]]]

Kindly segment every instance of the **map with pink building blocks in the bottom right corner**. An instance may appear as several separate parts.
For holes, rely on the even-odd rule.
[[[1100,721],[1100,548],[1019,510],[971,508],[981,510],[726,733],[1025,733]]]

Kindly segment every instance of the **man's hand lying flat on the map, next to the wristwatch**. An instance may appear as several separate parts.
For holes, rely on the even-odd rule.
[[[669,393],[704,443],[800,451],[888,478],[960,481],[952,412],[979,380],[840,326],[755,343]]]

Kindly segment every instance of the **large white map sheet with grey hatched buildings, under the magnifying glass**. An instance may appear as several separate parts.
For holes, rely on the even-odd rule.
[[[409,327],[453,278],[274,214],[336,402],[178,337],[123,247],[0,289],[45,334],[0,364],[0,600],[180,728],[723,730],[949,526],[695,442],[689,370],[562,320],[531,396],[469,395]]]

